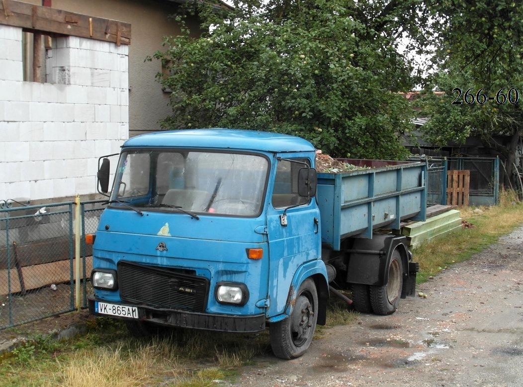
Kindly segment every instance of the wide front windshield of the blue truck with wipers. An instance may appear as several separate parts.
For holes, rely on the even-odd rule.
[[[254,217],[268,160],[261,155],[181,150],[124,151],[111,205]]]

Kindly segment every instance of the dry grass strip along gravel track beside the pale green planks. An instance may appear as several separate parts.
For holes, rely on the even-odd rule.
[[[523,223],[523,204],[514,191],[501,191],[498,206],[466,207],[460,211],[461,218],[475,227],[454,231],[415,248],[414,260],[419,263],[418,283],[453,263],[469,259]]]

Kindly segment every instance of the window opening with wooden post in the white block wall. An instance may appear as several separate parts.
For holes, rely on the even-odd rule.
[[[22,34],[22,64],[24,81],[46,82],[46,51],[51,49],[51,37],[35,31]]]

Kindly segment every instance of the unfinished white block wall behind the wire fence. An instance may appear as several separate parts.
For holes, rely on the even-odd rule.
[[[22,30],[0,25],[0,200],[88,195],[97,159],[129,138],[128,46],[78,37],[24,82]]]

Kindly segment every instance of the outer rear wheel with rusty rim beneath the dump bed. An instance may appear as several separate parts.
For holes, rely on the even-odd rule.
[[[394,313],[400,302],[403,288],[403,265],[401,255],[396,250],[392,253],[389,265],[389,279],[386,286],[370,287],[370,303],[374,314]]]

